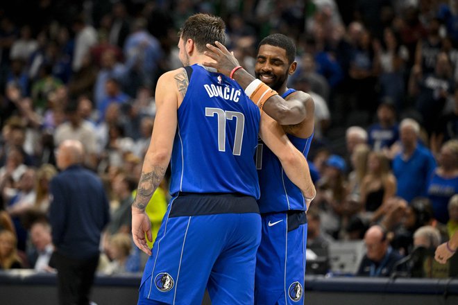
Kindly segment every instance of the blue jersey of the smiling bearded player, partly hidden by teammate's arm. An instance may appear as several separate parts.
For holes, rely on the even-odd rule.
[[[282,94],[282,98],[295,91],[295,89],[288,89]],[[287,136],[289,141],[307,157],[313,134],[305,139],[294,137],[292,134]],[[257,147],[256,164],[261,188],[261,196],[257,202],[261,213],[307,209],[302,192],[289,180],[278,157],[261,140]]]

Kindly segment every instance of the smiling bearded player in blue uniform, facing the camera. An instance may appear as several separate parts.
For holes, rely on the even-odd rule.
[[[224,46],[218,43],[217,46],[207,46],[206,53],[217,64],[205,65],[225,74],[239,67]],[[288,76],[296,71],[295,55],[296,46],[287,36],[269,35],[258,46],[257,79],[242,69],[237,69],[232,77],[242,87],[265,84],[278,92],[278,97],[264,102],[264,112],[282,124],[288,118],[296,120],[282,127],[289,140],[307,157],[314,132],[314,103],[309,94],[287,88]],[[256,102],[256,94],[254,96]],[[307,240],[305,211],[314,195],[307,198],[285,177],[282,164],[262,141],[258,145],[256,163],[261,190],[257,202],[262,216],[262,241],[257,252],[255,304],[303,304]]]

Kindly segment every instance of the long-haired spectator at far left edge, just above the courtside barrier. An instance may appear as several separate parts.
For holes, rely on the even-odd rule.
[[[22,268],[22,259],[17,254],[17,238],[14,233],[0,231],[0,270]]]

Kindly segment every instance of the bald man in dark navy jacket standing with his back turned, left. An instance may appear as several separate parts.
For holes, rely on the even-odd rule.
[[[51,180],[49,218],[58,270],[59,304],[90,304],[90,288],[99,263],[101,232],[109,221],[109,203],[99,177],[81,163],[80,141],[63,141],[57,153],[61,172]]]

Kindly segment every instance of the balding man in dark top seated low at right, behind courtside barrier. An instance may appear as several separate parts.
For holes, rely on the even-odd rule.
[[[363,277],[389,277],[402,256],[389,245],[387,232],[379,225],[370,227],[364,235],[366,254],[357,271]]]

